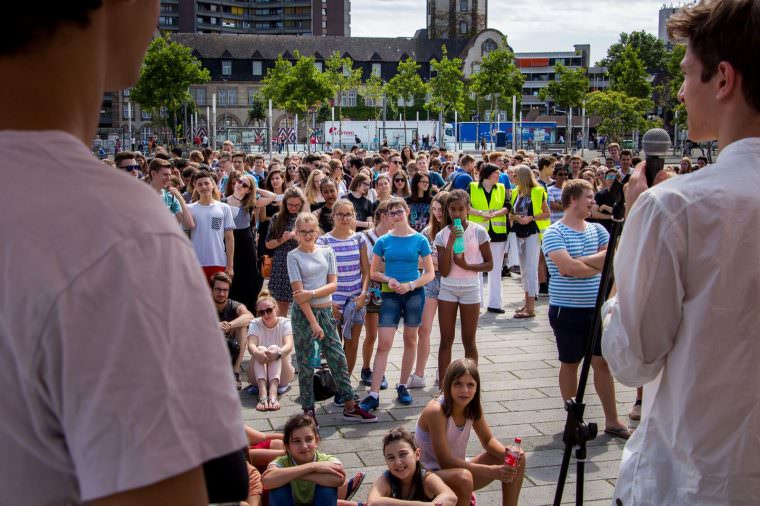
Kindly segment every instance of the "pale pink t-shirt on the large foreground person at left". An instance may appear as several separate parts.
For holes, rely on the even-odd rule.
[[[64,132],[0,132],[0,160],[0,502],[81,504],[243,448],[208,285],[155,192]]]

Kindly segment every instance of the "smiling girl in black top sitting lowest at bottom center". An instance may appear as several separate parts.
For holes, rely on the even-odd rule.
[[[420,449],[406,429],[391,429],[385,435],[383,456],[388,470],[372,484],[367,504],[454,506],[457,503],[457,496],[443,480],[422,467]]]

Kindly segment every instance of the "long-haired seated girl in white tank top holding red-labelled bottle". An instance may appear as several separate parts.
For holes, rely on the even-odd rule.
[[[458,497],[458,506],[470,504],[473,490],[494,480],[501,482],[502,504],[516,505],[525,473],[520,450],[516,467],[505,465],[506,448],[491,433],[480,404],[480,375],[474,361],[452,362],[441,384],[443,395],[430,401],[417,421],[415,436],[422,465],[435,472]],[[465,452],[474,430],[485,450],[467,460]]]

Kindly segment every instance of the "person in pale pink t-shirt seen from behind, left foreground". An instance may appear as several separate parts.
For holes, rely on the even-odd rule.
[[[0,186],[3,504],[247,495],[240,400],[192,248],[153,190],[89,148],[103,92],[137,80],[159,4],[4,6],[0,160],[25,170]]]

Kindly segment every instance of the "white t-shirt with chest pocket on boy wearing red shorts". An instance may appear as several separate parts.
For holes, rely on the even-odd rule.
[[[188,208],[195,220],[195,228],[190,237],[198,261],[204,267],[226,266],[224,232],[235,229],[235,215],[232,209],[224,202],[217,201],[209,205],[193,202]]]

